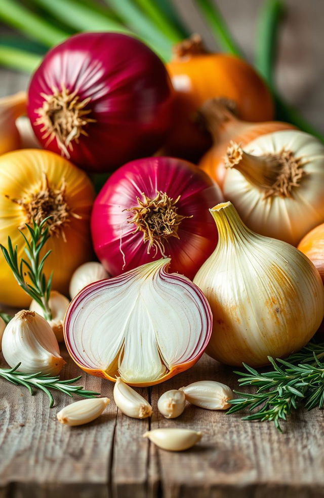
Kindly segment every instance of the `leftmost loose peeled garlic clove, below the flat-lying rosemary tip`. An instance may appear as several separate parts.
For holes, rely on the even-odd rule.
[[[109,398],[82,399],[64,406],[56,417],[61,424],[69,426],[88,424],[97,419],[109,403]]]

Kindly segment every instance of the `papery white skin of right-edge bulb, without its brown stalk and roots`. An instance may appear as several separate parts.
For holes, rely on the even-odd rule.
[[[288,196],[265,197],[267,190],[247,179],[241,164],[229,169],[223,184],[224,196],[249,228],[297,246],[309,230],[324,221],[324,145],[308,133],[282,130],[256,138],[243,151],[256,159],[291,151],[300,162],[302,176]],[[272,172],[275,168],[276,163]],[[259,171],[256,163],[254,174]]]

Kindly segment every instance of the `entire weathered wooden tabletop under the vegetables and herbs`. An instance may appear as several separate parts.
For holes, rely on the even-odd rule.
[[[62,377],[80,374],[67,358]],[[0,497],[10,498],[313,498],[324,496],[323,414],[300,412],[280,434],[271,424],[188,405],[166,420],[157,399],[169,389],[215,379],[236,386],[230,369],[207,356],[188,372],[139,392],[153,406],[151,420],[135,420],[113,402],[110,382],[83,374],[87,389],[111,403],[95,422],[63,426],[56,413],[69,398],[0,383]],[[182,453],[158,449],[142,434],[157,427],[190,427],[201,442]]]

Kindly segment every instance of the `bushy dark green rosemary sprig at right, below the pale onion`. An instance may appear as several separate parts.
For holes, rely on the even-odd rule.
[[[287,417],[302,403],[310,410],[324,405],[324,343],[310,342],[299,353],[288,360],[269,357],[273,369],[258,372],[244,363],[247,372],[239,375],[240,386],[256,386],[255,393],[234,391],[238,398],[229,401],[233,406],[228,413],[248,409],[250,413],[242,420],[272,421],[281,431],[280,421]]]

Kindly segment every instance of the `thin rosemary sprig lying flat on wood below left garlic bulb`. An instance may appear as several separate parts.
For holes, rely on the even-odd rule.
[[[74,384],[74,382],[81,379],[82,376],[60,381],[59,377],[49,377],[48,375],[43,375],[42,372],[37,372],[36,374],[23,374],[22,372],[17,371],[19,365],[20,363],[14,368],[0,368],[0,377],[3,377],[17,386],[25,386],[32,396],[35,394],[35,389],[41,389],[50,399],[50,408],[54,406],[54,398],[49,391],[50,389],[61,391],[71,398],[73,397],[73,394],[82,398],[94,398],[100,395],[100,393],[94,391],[87,391],[83,386],[71,386],[71,384]]]

